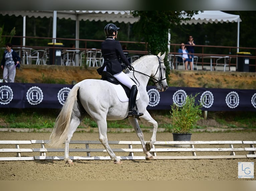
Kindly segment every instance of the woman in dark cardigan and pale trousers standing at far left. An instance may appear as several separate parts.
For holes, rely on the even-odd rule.
[[[13,83],[16,75],[16,67],[20,68],[20,57],[12,50],[12,44],[6,43],[6,50],[1,61],[3,72],[3,80],[7,83]]]

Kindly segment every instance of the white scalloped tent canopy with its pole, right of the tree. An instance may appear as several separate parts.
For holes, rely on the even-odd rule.
[[[188,21],[182,21],[181,24],[203,24],[203,23],[233,23],[237,22],[237,52],[239,52],[239,23],[242,20],[240,19],[239,15],[232,15],[222,11],[204,11],[199,12],[199,14],[194,15]]]

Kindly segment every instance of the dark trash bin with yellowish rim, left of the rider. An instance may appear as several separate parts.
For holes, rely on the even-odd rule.
[[[62,43],[48,43],[52,48],[49,48],[49,62],[50,65],[61,65],[61,49]]]

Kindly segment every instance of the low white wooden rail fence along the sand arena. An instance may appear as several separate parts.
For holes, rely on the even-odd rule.
[[[47,143],[48,140],[0,140],[0,161],[63,160],[64,148],[47,148]],[[140,141],[108,143],[120,159],[145,160]],[[255,144],[256,141],[156,141],[150,152],[155,159],[256,158]],[[110,160],[100,141],[72,140],[69,151],[81,155],[71,156],[73,160]]]

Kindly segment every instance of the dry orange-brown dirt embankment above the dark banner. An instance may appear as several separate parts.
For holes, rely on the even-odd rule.
[[[256,73],[220,72],[220,71],[182,71],[173,70],[169,74],[170,86],[254,89]],[[21,65],[16,71],[15,82],[45,83],[54,80],[67,84],[77,83],[84,79],[100,79],[96,68],[52,65]]]

